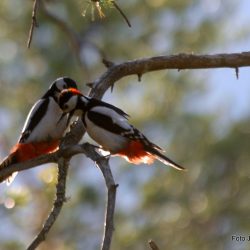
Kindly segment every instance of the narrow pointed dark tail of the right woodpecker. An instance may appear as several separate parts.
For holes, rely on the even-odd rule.
[[[161,161],[163,164],[173,167],[177,170],[185,170],[186,168],[182,167],[181,165],[177,164],[176,162],[169,159],[167,156],[161,153],[162,149],[157,145],[153,144],[152,146],[148,146],[146,151],[154,156],[157,160]]]

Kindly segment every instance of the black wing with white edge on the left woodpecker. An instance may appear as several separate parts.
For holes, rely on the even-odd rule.
[[[33,129],[41,121],[45,115],[49,105],[49,98],[38,100],[31,108],[26,121],[24,123],[21,136],[19,138],[20,143],[25,143]]]

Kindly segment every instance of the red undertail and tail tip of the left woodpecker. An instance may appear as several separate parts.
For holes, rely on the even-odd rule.
[[[57,149],[59,140],[36,143],[17,143],[10,151],[10,154],[0,164],[0,169],[10,165],[27,161],[43,154],[51,153]],[[7,179],[11,182],[12,176],[0,179],[0,182]]]

